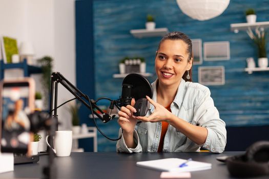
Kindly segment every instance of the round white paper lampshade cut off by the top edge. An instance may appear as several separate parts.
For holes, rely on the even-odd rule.
[[[181,11],[197,20],[208,20],[219,16],[229,3],[230,0],[177,0]]]

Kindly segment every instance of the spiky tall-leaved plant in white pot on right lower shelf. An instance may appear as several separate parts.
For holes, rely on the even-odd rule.
[[[266,68],[268,66],[268,58],[266,54],[266,45],[268,40],[268,33],[264,32],[263,28],[256,28],[255,33],[251,28],[246,30],[246,33],[254,41],[258,47],[258,65],[260,68]]]

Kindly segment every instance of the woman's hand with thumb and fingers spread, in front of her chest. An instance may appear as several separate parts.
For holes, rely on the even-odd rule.
[[[148,117],[138,116],[137,119],[143,122],[160,122],[160,121],[168,122],[168,120],[171,118],[170,116],[172,115],[172,113],[159,103],[153,101],[150,97],[146,96],[146,98],[149,100],[151,104],[154,105],[155,107],[154,112]]]

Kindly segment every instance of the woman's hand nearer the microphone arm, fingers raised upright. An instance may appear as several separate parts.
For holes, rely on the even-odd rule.
[[[120,111],[118,111],[118,124],[123,129],[123,132],[126,134],[133,135],[134,128],[137,122],[137,118],[133,116],[133,113],[136,113],[134,108],[135,100],[134,98],[131,101],[131,105],[122,106]]]

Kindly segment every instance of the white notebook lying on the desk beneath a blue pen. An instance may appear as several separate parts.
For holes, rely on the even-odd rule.
[[[169,158],[169,159],[160,159],[153,161],[143,161],[136,162],[136,165],[139,167],[145,167],[160,171],[171,171],[171,172],[186,172],[186,171],[197,171],[197,170],[208,170],[211,169],[210,163],[190,161],[184,167],[179,167],[181,164],[187,160]]]

